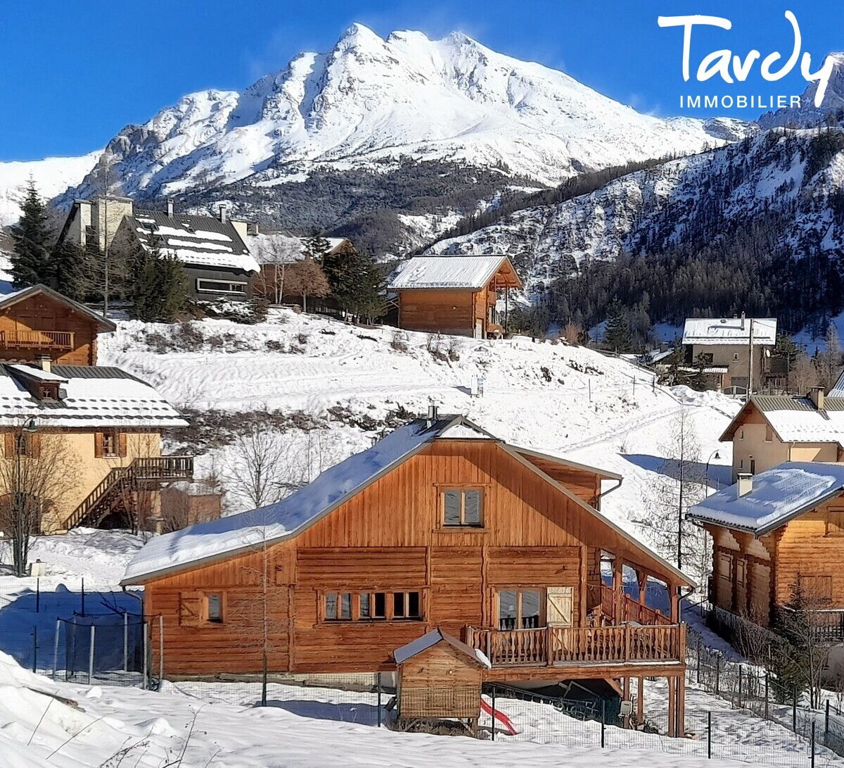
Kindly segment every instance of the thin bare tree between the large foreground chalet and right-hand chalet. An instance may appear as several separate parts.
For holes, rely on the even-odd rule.
[[[665,459],[642,491],[647,515],[636,523],[678,568],[686,565],[697,575],[704,575],[711,557],[706,532],[686,515],[706,495],[706,471],[687,408],[674,415],[661,448]]]

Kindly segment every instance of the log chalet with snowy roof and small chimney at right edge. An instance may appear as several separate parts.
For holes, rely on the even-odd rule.
[[[712,537],[710,602],[763,627],[799,590],[844,640],[844,466],[789,461],[689,511]]]

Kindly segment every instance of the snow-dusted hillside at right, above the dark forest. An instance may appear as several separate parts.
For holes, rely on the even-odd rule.
[[[836,129],[834,138],[840,134]],[[529,293],[563,275],[564,257],[580,263],[709,242],[736,223],[779,212],[776,245],[797,258],[816,248],[834,256],[844,246],[838,204],[844,152],[825,155],[824,140],[814,130],[763,133],[631,173],[561,204],[519,210],[429,252],[509,253],[527,272]],[[769,243],[765,248],[770,252]]]

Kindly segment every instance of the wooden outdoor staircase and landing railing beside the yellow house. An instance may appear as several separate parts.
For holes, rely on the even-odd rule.
[[[193,456],[151,456],[133,459],[127,466],[118,466],[86,496],[68,517],[65,527],[95,528],[127,496],[140,490],[147,482],[172,482],[193,479]]]

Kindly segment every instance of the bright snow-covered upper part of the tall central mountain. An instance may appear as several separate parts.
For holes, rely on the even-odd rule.
[[[242,92],[184,96],[111,141],[104,162],[129,195],[179,193],[252,177],[301,181],[315,167],[383,168],[402,155],[501,166],[555,183],[584,169],[700,151],[744,123],[642,115],[538,63],[466,35],[382,40],[346,30]],[[88,194],[102,168],[76,194]]]

